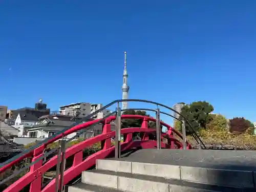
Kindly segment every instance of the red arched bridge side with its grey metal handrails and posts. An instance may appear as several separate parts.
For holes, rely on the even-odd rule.
[[[156,105],[156,109],[134,109],[134,110],[147,110],[156,113],[156,118],[140,115],[121,115],[121,109],[119,108],[119,103],[122,101],[134,101],[134,102],[147,102]],[[95,114],[109,108],[113,104],[117,103],[116,110],[110,115],[104,117],[103,119],[90,120]],[[139,99],[126,99],[126,100],[116,100],[108,105],[105,105],[100,110],[92,113],[86,118],[82,119],[80,122],[75,123],[72,127],[67,127],[66,129],[60,131],[59,133],[47,138],[43,141],[38,142],[34,146],[30,147],[28,150],[18,154],[17,156],[9,159],[8,161],[0,164],[0,173],[6,172],[14,165],[18,164],[25,159],[29,159],[30,162],[25,164],[23,168],[14,172],[13,175],[0,181],[0,185],[11,181],[20,173],[24,173],[28,170],[26,174],[22,177],[16,179],[16,181],[10,184],[4,189],[5,192],[18,192],[24,188],[30,192],[52,192],[52,191],[62,191],[64,185],[73,182],[75,179],[79,178],[83,170],[92,168],[96,159],[103,159],[107,157],[120,158],[123,153],[131,149],[139,148],[179,148],[179,149],[190,149],[191,145],[186,141],[185,133],[186,127],[190,127],[193,131],[193,136],[199,145],[205,147],[200,138],[196,135],[196,132],[192,129],[188,120],[184,117],[181,121],[183,127],[183,135],[178,131],[173,129],[170,125],[162,122],[160,120],[160,114],[165,114],[170,117],[167,113],[161,112],[159,106],[172,110],[176,113],[177,111],[169,108],[166,105]],[[178,113],[179,114],[179,113]],[[140,119],[140,127],[127,127],[121,129],[121,119]],[[87,122],[86,122],[87,121]],[[156,127],[148,127],[148,122],[156,122]],[[115,131],[111,131],[111,123],[115,124]],[[76,140],[79,135],[92,129],[92,126],[96,124],[102,124],[102,132],[100,135],[91,137],[89,139],[83,140],[71,147],[67,147],[67,143]],[[187,126],[186,126],[187,125]],[[167,131],[163,133],[161,131],[161,126],[166,127]],[[77,133],[74,137],[70,139],[65,139],[66,136]],[[140,139],[134,139],[133,134],[138,133]],[[123,141],[121,141],[121,135],[123,136]],[[114,145],[112,139],[114,138]],[[52,150],[48,150],[48,146],[51,143],[58,141],[59,145]],[[83,151],[100,142],[100,150],[93,153],[90,156],[84,157]],[[68,163],[69,160],[69,163]],[[69,164],[69,165],[68,165]],[[45,182],[44,178],[49,170],[54,170],[54,177],[49,178]]]

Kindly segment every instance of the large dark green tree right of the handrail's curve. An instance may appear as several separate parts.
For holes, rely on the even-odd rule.
[[[182,108],[181,114],[189,120],[191,126],[195,131],[199,131],[200,128],[206,129],[206,124],[211,120],[209,115],[214,111],[214,107],[206,101],[193,102],[190,105],[185,105]],[[180,117],[182,119],[182,117]],[[189,130],[186,125],[186,130]],[[190,133],[188,131],[188,133]]]

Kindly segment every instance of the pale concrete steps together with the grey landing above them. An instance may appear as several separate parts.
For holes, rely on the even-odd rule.
[[[99,159],[96,169],[83,172],[82,182],[69,186],[68,191],[256,191],[255,156],[246,152],[218,152],[140,150],[120,159]],[[231,161],[234,157],[243,158],[244,164]]]

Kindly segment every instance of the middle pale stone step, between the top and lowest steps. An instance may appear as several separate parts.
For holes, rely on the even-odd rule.
[[[234,188],[178,179],[138,175],[109,170],[89,170],[82,173],[82,183],[129,192],[252,192],[252,188]]]

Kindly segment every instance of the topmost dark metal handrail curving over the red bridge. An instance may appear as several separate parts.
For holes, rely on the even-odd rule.
[[[158,105],[158,106],[162,106],[162,107],[164,107],[164,108],[166,108],[166,109],[169,109],[169,110],[171,110],[171,111],[173,111],[173,112],[179,114],[181,117],[183,117],[183,118],[185,119],[185,121],[188,123],[188,125],[190,126],[190,128],[193,130],[193,132],[195,133],[195,135],[198,137],[196,131],[193,129],[193,127],[191,126],[191,124],[189,123],[189,121],[188,121],[183,115],[181,115],[178,111],[176,111],[176,110],[170,108],[170,107],[167,106],[167,105],[164,105],[164,104],[161,104],[161,103],[158,103],[158,102],[154,102],[154,101],[143,100],[143,99],[118,99],[118,100],[112,101],[112,102],[109,103],[109,104],[106,104],[106,105],[103,106],[101,109],[99,109],[99,110],[93,112],[92,114],[90,114],[90,115],[88,115],[88,116],[86,116],[86,117],[80,119],[79,121],[75,122],[75,123],[72,124],[71,126],[66,127],[65,129],[63,129],[63,130],[57,132],[56,134],[52,135],[51,137],[49,137],[49,138],[47,138],[47,139],[45,139],[45,140],[39,141],[39,142],[38,142],[37,144],[35,144],[34,146],[28,148],[28,150],[25,150],[25,151],[23,151],[22,153],[19,153],[18,155],[14,156],[13,158],[8,159],[7,161],[1,163],[1,164],[0,164],[0,168],[3,167],[3,166],[5,166],[5,165],[7,165],[8,163],[10,163],[10,162],[16,160],[16,159],[18,159],[18,158],[20,158],[20,157],[22,157],[22,156],[28,154],[28,153],[31,153],[31,152],[32,152],[33,150],[35,150],[37,147],[39,147],[39,146],[41,146],[42,144],[47,143],[48,141],[54,139],[56,136],[61,135],[61,134],[63,135],[64,132],[66,132],[67,130],[71,129],[73,126],[75,126],[75,125],[77,125],[77,124],[79,124],[79,123],[81,123],[81,122],[83,122],[83,121],[86,121],[86,120],[91,119],[94,115],[96,115],[96,114],[98,114],[99,112],[105,110],[106,108],[109,108],[109,107],[112,106],[113,104],[119,103],[119,102],[130,102],[130,101],[131,101],[131,102],[145,102],[145,103],[156,104],[156,105]],[[202,140],[201,140],[199,137],[198,137],[198,139],[199,139],[199,141],[202,143],[202,145],[205,147],[205,145],[204,145],[204,143],[202,142]],[[205,148],[206,148],[206,147],[205,147]]]

